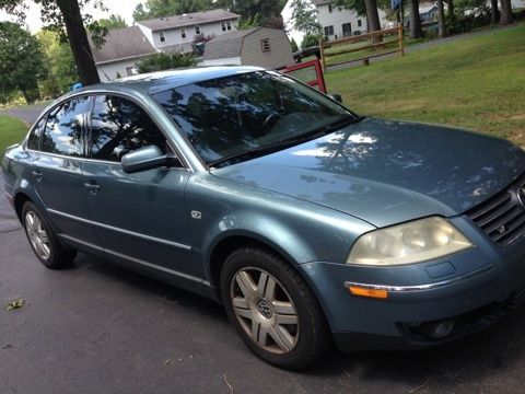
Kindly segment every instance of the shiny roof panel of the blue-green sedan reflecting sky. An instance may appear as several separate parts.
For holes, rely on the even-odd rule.
[[[116,88],[117,90],[120,90],[122,88],[130,88],[133,90],[141,90],[148,94],[155,94],[168,89],[184,86],[190,83],[261,70],[264,69],[260,67],[250,66],[214,66],[158,71],[127,77],[114,82],[90,85],[85,89],[77,91],[77,93],[83,90],[92,89],[113,90],[112,88]]]

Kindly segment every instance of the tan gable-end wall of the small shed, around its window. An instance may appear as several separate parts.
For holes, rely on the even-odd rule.
[[[260,42],[264,38],[270,39],[269,51],[261,49]],[[267,69],[293,65],[292,46],[284,31],[262,27],[244,37],[241,61],[244,66]]]

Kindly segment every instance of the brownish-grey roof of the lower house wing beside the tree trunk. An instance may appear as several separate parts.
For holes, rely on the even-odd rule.
[[[105,36],[105,44],[98,49],[90,39],[95,63],[137,58],[156,53],[138,26],[110,30]]]

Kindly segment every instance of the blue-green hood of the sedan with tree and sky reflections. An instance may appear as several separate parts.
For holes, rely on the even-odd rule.
[[[385,227],[430,215],[463,213],[524,170],[525,153],[504,140],[365,118],[212,174]]]

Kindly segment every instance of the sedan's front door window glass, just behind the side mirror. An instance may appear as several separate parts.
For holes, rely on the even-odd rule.
[[[91,121],[93,159],[118,162],[129,151],[156,146],[166,153],[166,139],[137,104],[119,96],[97,96]]]

